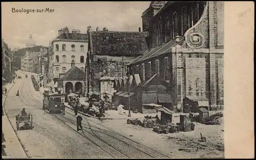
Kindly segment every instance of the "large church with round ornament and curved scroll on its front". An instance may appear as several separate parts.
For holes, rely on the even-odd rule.
[[[128,65],[142,83],[154,74],[172,97],[174,109],[185,97],[223,109],[224,2],[152,2],[142,14],[151,51]]]

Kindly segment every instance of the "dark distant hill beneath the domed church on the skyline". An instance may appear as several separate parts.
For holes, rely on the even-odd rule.
[[[22,49],[18,49],[17,51],[14,51],[13,54],[14,54],[14,57],[15,57],[15,61],[14,61],[14,66],[17,68],[17,69],[20,69],[20,57],[22,56],[25,56],[26,54],[26,51],[29,51],[29,52],[38,52],[40,51],[40,49],[43,48],[43,49],[46,49],[47,47],[45,46],[42,46],[42,45],[37,45],[37,46],[34,46],[34,47],[28,47],[28,48],[22,48]]]

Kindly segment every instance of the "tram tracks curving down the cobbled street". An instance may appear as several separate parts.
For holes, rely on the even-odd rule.
[[[30,86],[30,84],[28,86]],[[24,87],[24,82],[23,82],[23,84],[20,85],[19,89],[23,88],[23,87]],[[36,99],[32,95],[30,87],[28,87],[26,89],[28,89],[28,90],[25,91],[27,93],[28,98],[31,98],[31,100],[34,101],[35,103],[39,102],[39,103],[42,104],[41,101],[39,101],[38,99]],[[28,102],[28,100],[24,96],[22,96],[22,98],[25,99]],[[24,104],[26,104],[20,97],[19,97],[19,99]],[[35,104],[31,104],[31,105],[26,104],[26,105],[41,109],[41,106],[39,106],[37,104],[36,105]],[[70,113],[68,113],[68,114],[72,115]],[[53,114],[51,114],[51,115],[53,115]],[[59,116],[59,115],[53,115],[53,116],[56,117],[59,121],[61,121],[65,125],[67,125],[69,128],[72,128],[73,130],[76,131],[76,129],[73,128],[74,126],[76,128],[76,123],[74,122],[74,120],[72,120],[70,118],[67,118],[67,117],[64,117],[64,116]],[[75,115],[72,115],[72,116],[76,117]],[[91,141],[93,144],[100,147],[102,150],[104,150],[105,152],[110,154],[112,157],[120,157],[120,158],[124,158],[124,157],[128,157],[128,158],[134,158],[134,157],[137,157],[137,158],[141,158],[141,157],[143,157],[143,158],[144,157],[148,157],[148,158],[164,157],[164,158],[167,158],[166,155],[164,155],[164,154],[162,154],[158,151],[150,149],[150,148],[148,148],[144,145],[141,145],[141,144],[139,144],[139,143],[137,143],[137,142],[135,142],[131,139],[127,139],[126,137],[116,133],[115,131],[113,131],[109,128],[106,128],[105,126],[103,126],[99,123],[96,123],[92,120],[88,120],[87,118],[85,118],[85,119],[88,123],[87,125],[89,126],[89,128],[87,128],[87,129],[89,129],[89,131],[87,131],[86,129],[82,129],[82,133],[79,132],[79,131],[76,131],[76,132],[78,132],[78,134],[80,134],[81,136],[83,136],[87,140]],[[68,121],[68,123],[70,123],[74,126],[72,127],[70,124],[67,124],[67,121]],[[105,130],[105,129],[102,129],[102,128],[92,126],[89,121],[91,121],[93,123],[96,123],[99,126],[104,127],[106,129],[109,129],[109,130]],[[97,128],[101,131],[95,130],[92,127]],[[84,131],[86,132],[86,134],[84,133]],[[102,131],[104,131],[104,132],[102,132]],[[92,133],[90,133],[90,132],[92,132]],[[97,132],[97,133],[95,133],[95,132]],[[119,136],[119,138],[117,138],[117,136]],[[103,138],[104,138],[104,140],[103,140]],[[116,141],[116,143],[113,143],[115,141]],[[131,143],[133,145],[131,145],[129,143]],[[106,150],[105,148],[107,148],[108,150]],[[144,149],[144,151],[141,148]],[[154,153],[155,155],[153,155],[152,153]]]

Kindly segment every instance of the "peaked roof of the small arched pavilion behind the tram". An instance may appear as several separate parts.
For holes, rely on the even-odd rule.
[[[76,66],[73,66],[70,68],[70,70],[67,71],[67,73],[60,78],[61,81],[65,80],[65,81],[76,81],[76,80],[80,80],[80,81],[84,81],[84,76],[85,73],[79,69]]]

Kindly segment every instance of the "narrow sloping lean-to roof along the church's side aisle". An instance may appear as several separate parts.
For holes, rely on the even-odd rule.
[[[182,45],[182,43],[184,42],[184,37],[180,37],[180,42],[179,44]],[[148,50],[144,55],[137,57],[135,60],[133,60],[131,63],[127,64],[127,65],[131,65],[131,64],[136,64],[138,62],[142,62],[163,54],[166,54],[168,52],[172,51],[172,47],[174,47],[176,45],[175,40],[170,40],[167,43],[164,43],[160,46],[157,46],[155,48],[152,48],[151,50]]]

